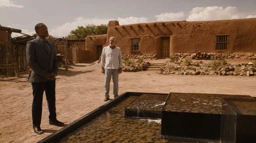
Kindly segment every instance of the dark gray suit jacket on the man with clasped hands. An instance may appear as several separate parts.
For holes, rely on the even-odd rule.
[[[32,69],[28,79],[29,82],[46,82],[47,79],[43,76],[47,72],[55,72],[57,74],[58,60],[54,45],[49,41],[47,43],[50,45],[50,51],[45,48],[39,37],[27,42],[27,61]]]

